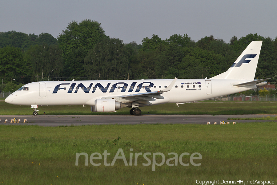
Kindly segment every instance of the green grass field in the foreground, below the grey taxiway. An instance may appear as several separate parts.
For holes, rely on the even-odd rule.
[[[39,127],[0,125],[0,183],[3,184],[196,184],[200,180],[277,180],[277,127],[275,122],[237,123],[235,125],[154,124],[154,125],[90,125],[71,127]],[[200,166],[183,156],[182,166],[125,166],[117,159],[114,166],[94,159],[93,166],[76,152],[110,153],[111,163],[122,148],[129,164],[129,154],[169,152],[190,155]],[[133,151],[130,152],[130,148]],[[103,155],[102,155],[103,156]],[[121,155],[119,155],[121,156]],[[157,155],[159,156],[159,155]],[[161,163],[162,157],[156,158]],[[171,160],[170,163],[173,163]]]

